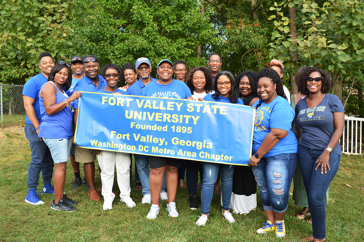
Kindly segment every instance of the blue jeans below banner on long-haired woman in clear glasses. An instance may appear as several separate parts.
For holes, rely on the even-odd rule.
[[[233,191],[234,165],[203,162],[203,182],[201,189],[201,213],[209,214],[214,185],[220,170],[222,209],[229,210]]]

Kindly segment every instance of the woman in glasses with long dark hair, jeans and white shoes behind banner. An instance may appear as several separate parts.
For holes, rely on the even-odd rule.
[[[210,102],[233,103],[243,105],[234,76],[229,71],[220,71],[215,78],[214,94],[206,95],[203,100]],[[224,127],[221,127],[224,129]],[[228,129],[225,128],[225,131]],[[214,193],[214,185],[220,170],[222,214],[227,221],[234,223],[235,219],[229,212],[230,199],[233,189],[234,165],[203,162],[203,182],[201,188],[201,217],[196,225],[205,226],[209,217],[210,205]]]

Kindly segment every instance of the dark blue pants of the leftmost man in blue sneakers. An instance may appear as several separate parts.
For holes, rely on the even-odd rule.
[[[52,180],[53,159],[51,151],[46,143],[40,140],[33,124],[25,123],[25,136],[30,143],[31,162],[28,168],[28,190],[35,189],[39,185],[39,174],[42,172],[43,184],[47,185]]]

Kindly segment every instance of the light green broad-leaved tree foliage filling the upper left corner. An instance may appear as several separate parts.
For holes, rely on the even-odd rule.
[[[15,84],[39,73],[38,56],[48,51],[63,57],[71,42],[68,3],[60,0],[2,0],[0,76]]]

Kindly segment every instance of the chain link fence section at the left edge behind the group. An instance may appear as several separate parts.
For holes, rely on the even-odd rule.
[[[0,84],[1,126],[25,124],[24,85]]]

